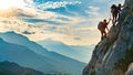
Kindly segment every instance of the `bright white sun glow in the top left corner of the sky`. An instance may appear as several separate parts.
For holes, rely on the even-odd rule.
[[[7,10],[12,7],[20,7],[22,4],[22,0],[2,0],[0,2],[0,10]]]

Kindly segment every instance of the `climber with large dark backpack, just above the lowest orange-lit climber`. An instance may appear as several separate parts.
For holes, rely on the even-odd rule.
[[[119,14],[119,10],[117,10],[117,7],[115,4],[111,6],[111,13],[113,17],[112,23],[113,23],[113,25],[115,25],[115,22],[117,20],[117,14]]]

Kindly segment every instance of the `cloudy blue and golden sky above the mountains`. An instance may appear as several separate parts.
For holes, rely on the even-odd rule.
[[[35,42],[52,39],[68,45],[96,44],[100,41],[99,21],[111,17],[111,4],[123,2],[3,0],[0,2],[0,32],[14,31]]]

